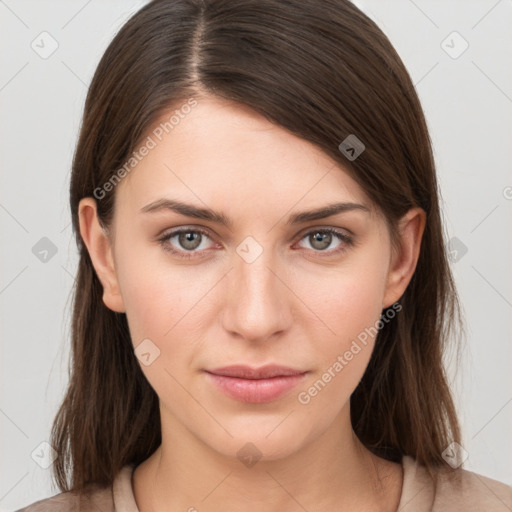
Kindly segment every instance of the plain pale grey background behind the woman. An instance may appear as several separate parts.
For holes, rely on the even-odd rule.
[[[41,465],[68,378],[71,158],[94,69],[145,3],[0,0],[0,512],[57,493]],[[467,320],[463,365],[448,361],[464,467],[510,485],[512,2],[355,3],[395,45],[431,132]]]

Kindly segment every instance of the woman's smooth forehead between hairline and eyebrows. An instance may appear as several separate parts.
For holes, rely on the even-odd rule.
[[[339,163],[249,107],[213,97],[185,104],[163,112],[142,138],[139,148],[150,149],[116,191],[133,207],[165,194],[241,206],[319,200],[370,206]]]

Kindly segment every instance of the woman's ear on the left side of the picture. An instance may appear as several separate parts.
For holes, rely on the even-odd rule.
[[[103,302],[112,311],[124,313],[125,307],[117,281],[111,240],[99,222],[96,201],[92,197],[85,197],[80,201],[78,218],[80,235],[103,286]]]

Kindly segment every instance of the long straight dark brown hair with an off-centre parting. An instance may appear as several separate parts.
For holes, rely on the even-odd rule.
[[[347,0],[153,0],[116,34],[87,94],[70,182],[79,251],[69,385],[51,442],[62,491],[111,485],[161,443],[159,401],[134,355],[126,315],[81,239],[79,201],[96,197],[162,113],[206,95],[245,105],[339,163],[385,217],[392,240],[412,207],[426,213],[402,309],[379,330],[350,398],[354,432],[373,453],[415,458],[434,476],[460,428],[443,365],[460,306],[445,249],[426,120],[411,78],[378,26]],[[364,151],[340,149],[356,135]],[[111,225],[115,192],[97,200]]]

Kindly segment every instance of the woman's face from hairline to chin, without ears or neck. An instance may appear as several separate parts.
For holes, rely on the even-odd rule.
[[[94,256],[104,301],[127,315],[163,429],[231,457],[292,454],[348,421],[404,258],[339,164],[251,110],[203,98],[154,133],[115,190],[111,269]],[[299,375],[209,373],[270,364]]]

